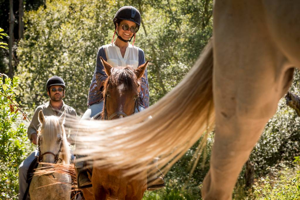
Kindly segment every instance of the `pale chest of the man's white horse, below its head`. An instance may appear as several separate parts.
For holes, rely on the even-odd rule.
[[[69,200],[71,197],[71,177],[70,175],[53,173],[50,178],[41,175],[33,176],[29,187],[31,200]],[[54,184],[54,183],[57,184]],[[62,184],[63,183],[63,184]]]

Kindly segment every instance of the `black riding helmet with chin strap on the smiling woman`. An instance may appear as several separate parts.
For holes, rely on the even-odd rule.
[[[116,12],[115,17],[113,18],[115,29],[117,28],[117,23],[120,24],[122,20],[129,20],[135,22],[137,24],[137,31],[139,31],[141,25],[141,14],[140,11],[137,10],[135,7],[123,6]],[[121,36],[118,35],[118,38],[123,42],[130,42],[132,37],[130,38],[130,40],[124,40]]]

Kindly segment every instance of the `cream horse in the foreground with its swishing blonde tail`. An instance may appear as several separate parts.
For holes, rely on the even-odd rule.
[[[101,123],[114,137],[104,138],[100,130],[93,141],[87,139],[97,145],[89,150],[91,158],[99,159],[99,166],[142,170],[162,155],[161,166],[174,158],[169,169],[215,120],[202,197],[231,199],[242,166],[300,66],[299,10],[299,1],[216,0],[214,38],[187,77],[147,111]]]

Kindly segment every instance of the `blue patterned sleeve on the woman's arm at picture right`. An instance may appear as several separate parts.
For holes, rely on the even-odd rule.
[[[139,48],[139,66],[145,63],[145,54],[142,49]],[[147,76],[147,69],[142,77],[141,81],[141,92],[140,92],[140,104],[142,104],[145,108],[149,107],[149,83]]]

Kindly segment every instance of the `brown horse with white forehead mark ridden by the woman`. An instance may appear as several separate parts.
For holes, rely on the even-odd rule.
[[[149,63],[141,65],[137,69],[127,67],[112,67],[101,57],[107,74],[104,83],[104,108],[99,116],[111,120],[132,115],[138,106],[140,91],[140,79]],[[128,169],[113,169],[112,166],[92,170],[93,199],[120,199],[140,200],[147,189],[147,172],[144,171],[139,178],[136,175],[124,176]],[[84,189],[86,199],[91,197],[91,190]]]

